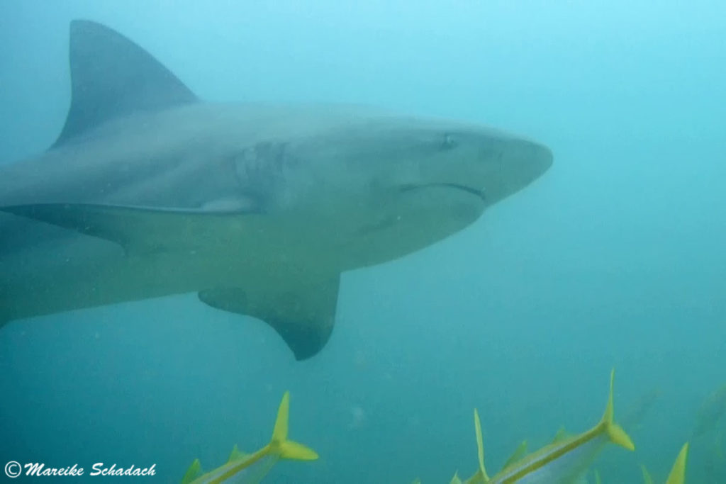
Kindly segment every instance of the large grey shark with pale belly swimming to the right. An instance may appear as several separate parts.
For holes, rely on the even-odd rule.
[[[460,231],[552,164],[466,123],[201,102],[95,22],[71,22],[70,67],[57,141],[0,170],[0,324],[197,292],[309,358],[341,272]]]

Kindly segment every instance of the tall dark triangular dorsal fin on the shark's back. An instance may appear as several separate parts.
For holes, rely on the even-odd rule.
[[[70,22],[68,55],[70,109],[52,148],[121,115],[197,101],[151,54],[97,22]]]

